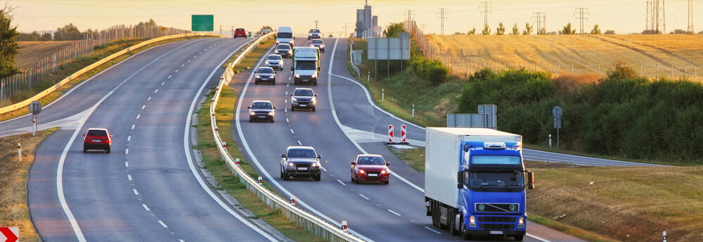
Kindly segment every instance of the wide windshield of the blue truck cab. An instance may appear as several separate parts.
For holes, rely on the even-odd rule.
[[[524,187],[524,175],[515,170],[470,171],[468,183],[471,188]]]

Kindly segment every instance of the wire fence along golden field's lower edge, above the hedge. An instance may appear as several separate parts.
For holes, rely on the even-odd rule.
[[[554,74],[602,74],[605,75],[614,69],[618,62],[530,62],[530,61],[496,61],[479,58],[470,60],[463,58],[456,51],[441,48],[427,41],[425,34],[418,28],[415,21],[404,21],[406,32],[411,33],[420,51],[426,58],[439,60],[449,69],[452,75],[468,77],[481,69],[505,71],[510,69],[527,69],[534,72],[551,72]],[[631,67],[640,76],[650,78],[689,79],[703,81],[703,69],[698,72],[699,65],[662,65],[646,63],[623,63]]]

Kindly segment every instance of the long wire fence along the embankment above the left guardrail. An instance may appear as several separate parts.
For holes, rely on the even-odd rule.
[[[47,55],[33,67],[21,69],[19,74],[0,79],[0,100],[11,98],[21,90],[30,90],[44,79],[45,75],[68,62],[90,55],[96,46],[126,39],[153,39],[173,34],[185,34],[190,31],[157,25],[115,25],[108,29],[86,33],[83,39],[75,41],[59,51]]]

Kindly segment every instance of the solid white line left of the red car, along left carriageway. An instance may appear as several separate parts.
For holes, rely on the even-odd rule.
[[[76,238],[78,239],[78,241],[81,241],[81,242],[86,241],[86,238],[83,235],[83,231],[81,230],[80,226],[78,225],[76,218],[73,216],[71,209],[68,207],[68,203],[66,203],[65,194],[63,194],[63,165],[66,162],[66,156],[68,155],[68,150],[71,148],[71,145],[73,144],[73,142],[75,142],[76,137],[78,136],[78,133],[83,129],[83,126],[85,125],[86,121],[88,121],[88,117],[90,117],[93,114],[95,109],[103,101],[105,101],[105,99],[108,99],[108,97],[110,97],[110,95],[112,95],[112,93],[115,93],[115,90],[117,90],[117,88],[120,88],[120,86],[124,85],[124,83],[127,83],[127,81],[129,81],[133,76],[135,76],[136,74],[141,72],[143,69],[146,69],[146,67],[150,66],[151,64],[153,64],[157,60],[160,60],[164,56],[178,50],[179,48],[182,48],[183,46],[187,46],[187,45],[189,45],[191,43],[195,43],[195,42],[196,41],[185,43],[179,47],[174,48],[173,50],[171,50],[167,53],[164,53],[163,55],[161,55],[158,58],[154,59],[153,61],[149,62],[149,64],[141,67],[141,69],[138,69],[136,72],[134,72],[134,74],[131,74],[129,77],[127,77],[127,79],[124,79],[124,81],[122,81],[120,84],[117,84],[115,89],[110,90],[110,92],[108,94],[105,94],[105,96],[103,96],[103,98],[101,98],[101,100],[98,100],[98,102],[96,102],[96,104],[93,105],[93,107],[91,107],[89,109],[88,116],[86,116],[86,118],[83,119],[83,121],[81,121],[79,126],[73,132],[73,135],[71,135],[68,142],[66,142],[66,146],[63,148],[63,152],[61,153],[61,157],[60,157],[60,159],[58,159],[58,168],[56,168],[56,194],[58,196],[58,201],[61,204],[61,208],[63,209],[63,213],[66,214],[68,222],[70,222],[71,227],[73,229],[73,232],[76,234]],[[125,161],[124,164],[127,165],[127,162]]]

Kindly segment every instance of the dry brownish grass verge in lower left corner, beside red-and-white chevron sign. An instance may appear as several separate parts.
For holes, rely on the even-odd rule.
[[[58,128],[0,137],[0,226],[19,227],[22,241],[39,241],[27,207],[27,175],[34,162],[34,151]],[[17,159],[17,144],[22,144],[22,162]]]

